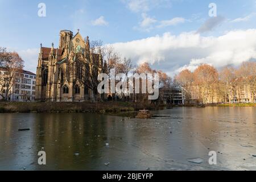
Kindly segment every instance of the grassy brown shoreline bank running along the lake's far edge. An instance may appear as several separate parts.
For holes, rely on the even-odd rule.
[[[125,113],[130,111],[162,110],[172,107],[256,107],[256,104],[209,104],[209,105],[155,105],[141,103],[108,102],[0,102],[0,113]]]

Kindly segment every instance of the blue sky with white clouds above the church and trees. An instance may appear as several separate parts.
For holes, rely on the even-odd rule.
[[[170,76],[256,59],[255,0],[0,0],[0,46],[28,71],[36,72],[40,43],[57,47],[60,30],[77,29]]]

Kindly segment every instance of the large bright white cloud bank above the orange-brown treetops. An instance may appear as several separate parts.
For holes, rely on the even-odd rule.
[[[219,37],[201,36],[195,32],[115,43],[114,48],[134,63],[144,61],[155,68],[174,75],[182,69],[193,71],[199,64],[208,63],[217,68],[238,65],[242,61],[256,59],[256,29],[227,32]]]

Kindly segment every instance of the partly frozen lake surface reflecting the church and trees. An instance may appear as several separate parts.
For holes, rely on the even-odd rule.
[[[255,107],[152,113],[0,114],[0,170],[256,170]],[[46,166],[38,164],[42,148]]]

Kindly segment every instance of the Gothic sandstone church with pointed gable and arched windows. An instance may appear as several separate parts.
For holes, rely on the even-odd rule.
[[[88,73],[84,73],[77,59],[88,63]],[[61,30],[59,47],[43,47],[41,44],[36,71],[36,101],[80,102],[93,99],[93,92],[88,84],[81,81],[84,75],[102,72],[101,54],[90,49],[89,37],[82,38],[78,30]],[[95,72],[94,72],[95,73]]]

